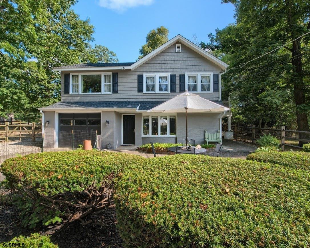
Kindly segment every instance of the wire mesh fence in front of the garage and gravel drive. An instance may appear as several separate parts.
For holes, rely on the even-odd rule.
[[[91,140],[92,147],[95,147],[96,139],[97,134],[93,130],[46,132],[36,135],[35,141],[30,136],[19,134],[11,135],[7,141],[6,135],[0,135],[0,166],[8,158],[31,153],[72,151],[83,145],[84,140]],[[0,173],[0,182],[4,179]]]

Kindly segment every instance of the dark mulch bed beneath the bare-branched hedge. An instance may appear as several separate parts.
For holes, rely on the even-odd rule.
[[[4,205],[4,206],[3,206]],[[50,235],[51,241],[59,247],[122,247],[122,239],[116,229],[115,208],[96,213],[90,217],[97,222],[105,220],[105,225],[82,226],[80,221],[65,221],[61,224],[43,226],[31,230],[21,226],[19,210],[10,204],[0,206],[0,241],[10,241],[13,237],[39,232]]]

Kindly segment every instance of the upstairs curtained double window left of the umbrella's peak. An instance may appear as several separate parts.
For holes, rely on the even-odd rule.
[[[170,73],[144,73],[143,93],[170,93]]]

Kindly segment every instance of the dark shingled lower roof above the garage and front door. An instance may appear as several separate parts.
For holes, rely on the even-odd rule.
[[[104,102],[57,102],[45,108],[138,108],[146,111],[162,104],[164,101],[104,101]],[[222,101],[212,101],[223,105]]]

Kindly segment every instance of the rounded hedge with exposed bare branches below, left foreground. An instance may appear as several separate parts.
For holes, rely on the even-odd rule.
[[[2,173],[16,190],[22,224],[79,219],[113,204],[115,175],[144,158],[98,151],[48,152],[7,159]]]

